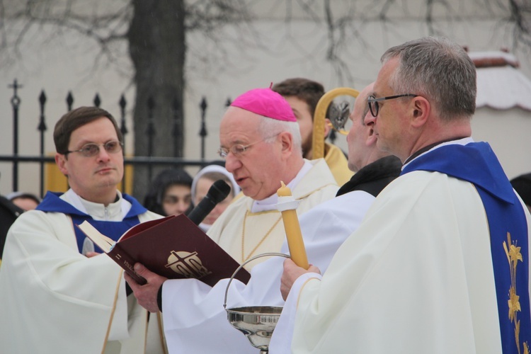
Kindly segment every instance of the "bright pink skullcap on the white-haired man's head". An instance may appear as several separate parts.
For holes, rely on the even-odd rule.
[[[293,110],[284,97],[271,89],[253,89],[236,97],[231,103],[249,112],[286,122],[297,122]]]

